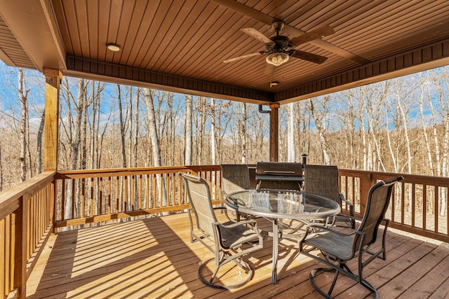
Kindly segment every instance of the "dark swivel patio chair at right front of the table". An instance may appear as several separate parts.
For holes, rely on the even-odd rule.
[[[311,285],[324,298],[333,298],[331,294],[337,282],[338,274],[340,273],[354,279],[369,291],[375,293],[375,298],[377,298],[375,287],[363,278],[363,268],[375,258],[382,258],[382,260],[387,258],[385,242],[389,220],[385,219],[384,215],[388,208],[394,183],[402,179],[402,176],[387,179],[375,183],[370,188],[366,211],[357,230],[344,233],[321,225],[308,226],[306,234],[299,242],[300,253],[319,260],[326,265],[326,267],[319,267],[312,270],[309,274]],[[377,239],[377,230],[381,222],[384,223],[382,246],[377,251],[372,251],[370,247]],[[311,253],[311,251],[316,249],[321,251],[322,256]],[[356,258],[358,262],[357,274],[352,272],[347,265],[353,258]],[[334,279],[327,293],[321,291],[314,282],[314,279],[325,271],[335,271]]]

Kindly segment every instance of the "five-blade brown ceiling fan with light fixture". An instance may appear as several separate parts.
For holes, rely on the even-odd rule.
[[[239,57],[230,58],[229,60],[225,60],[224,62],[225,63],[235,62],[237,60],[267,54],[266,61],[270,65],[268,66],[269,71],[266,72],[271,73],[274,67],[279,67],[281,64],[286,63],[290,57],[307,60],[309,62],[314,62],[317,64],[321,64],[328,59],[327,57],[321,55],[316,55],[297,50],[297,47],[302,45],[303,43],[314,41],[315,39],[320,39],[324,36],[334,34],[335,31],[332,27],[329,26],[321,27],[319,29],[312,30],[311,32],[307,32],[306,34],[296,36],[293,39],[288,39],[287,36],[279,34],[283,26],[284,23],[282,21],[274,22],[272,24],[272,27],[276,32],[276,36],[272,37],[267,37],[264,34],[258,32],[254,28],[241,29],[242,32],[250,36],[253,36],[253,38],[264,43],[265,50],[247,55],[242,55]]]

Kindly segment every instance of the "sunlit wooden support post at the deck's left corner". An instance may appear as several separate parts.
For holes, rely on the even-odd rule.
[[[58,167],[59,89],[62,74],[55,69],[43,69],[45,76],[45,129],[43,141],[43,170]]]

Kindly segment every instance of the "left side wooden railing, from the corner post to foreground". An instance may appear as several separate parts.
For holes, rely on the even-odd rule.
[[[26,282],[53,230],[54,172],[0,193],[0,298],[25,298]]]

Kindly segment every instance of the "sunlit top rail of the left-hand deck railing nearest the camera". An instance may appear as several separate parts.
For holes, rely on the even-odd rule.
[[[16,186],[0,192],[0,221],[19,207],[19,200],[25,194],[30,196],[39,192],[43,186],[53,181],[55,172],[42,172]]]

